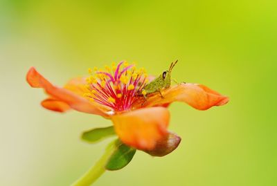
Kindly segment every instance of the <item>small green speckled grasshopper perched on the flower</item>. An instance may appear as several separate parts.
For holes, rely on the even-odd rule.
[[[171,71],[175,64],[177,64],[177,62],[178,60],[176,62],[172,62],[168,71],[164,71],[161,75],[159,75],[159,77],[156,77],[152,82],[146,84],[139,95],[143,95],[146,100],[147,95],[159,92],[161,97],[163,98],[161,90],[168,89],[170,87]]]

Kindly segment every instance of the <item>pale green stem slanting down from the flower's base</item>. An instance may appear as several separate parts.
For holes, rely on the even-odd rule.
[[[116,140],[117,141],[117,140]],[[102,155],[100,160],[96,162],[96,165],[91,167],[81,178],[75,181],[71,186],[89,186],[94,183],[105,171],[105,165],[111,154],[113,154],[114,149],[116,149],[116,141],[111,142]]]

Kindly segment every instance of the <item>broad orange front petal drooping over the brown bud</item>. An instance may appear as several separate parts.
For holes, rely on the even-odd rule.
[[[111,117],[120,140],[136,149],[152,150],[167,135],[168,109],[152,107],[121,113]]]

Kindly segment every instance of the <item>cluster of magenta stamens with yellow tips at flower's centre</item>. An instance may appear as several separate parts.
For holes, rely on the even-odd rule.
[[[148,82],[144,68],[136,71],[136,66],[127,62],[120,62],[117,66],[113,63],[111,68],[105,66],[105,71],[89,68],[89,74],[86,84],[89,93],[85,93],[84,97],[114,111],[132,109],[132,104],[140,98],[136,94],[141,93]]]

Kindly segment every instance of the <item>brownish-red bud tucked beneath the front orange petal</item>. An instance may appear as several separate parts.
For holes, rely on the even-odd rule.
[[[168,135],[165,138],[162,138],[157,142],[157,145],[151,151],[145,151],[151,156],[166,156],[174,151],[179,143],[181,142],[181,138],[177,136],[175,133],[168,132]]]

